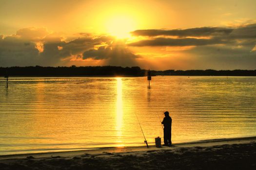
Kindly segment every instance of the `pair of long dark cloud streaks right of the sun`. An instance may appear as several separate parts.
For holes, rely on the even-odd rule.
[[[237,28],[202,27],[185,30],[137,30],[134,35],[153,36],[153,39],[140,40],[129,46],[203,46],[203,45],[255,45],[256,24]],[[172,35],[178,38],[155,37]],[[207,39],[201,36],[209,36]],[[193,37],[193,38],[191,38]],[[194,38],[195,37],[195,38]]]

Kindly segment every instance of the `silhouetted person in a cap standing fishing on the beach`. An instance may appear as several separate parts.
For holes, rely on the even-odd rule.
[[[172,145],[172,118],[169,116],[169,112],[164,112],[164,119],[162,124],[163,128],[163,146],[171,146]]]

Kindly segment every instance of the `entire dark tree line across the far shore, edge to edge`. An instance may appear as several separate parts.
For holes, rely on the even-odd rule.
[[[146,76],[148,70],[139,67],[88,66],[88,67],[0,67],[0,76]],[[256,70],[151,70],[152,76],[256,76]]]

